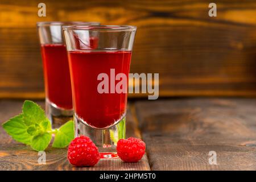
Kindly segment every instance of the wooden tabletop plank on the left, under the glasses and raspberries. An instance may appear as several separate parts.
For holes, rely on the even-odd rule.
[[[42,101],[37,101],[44,106]],[[0,124],[20,113],[22,101],[0,100]],[[140,137],[137,123],[130,110],[127,111],[127,137]],[[38,152],[29,146],[15,142],[0,127],[0,171],[1,170],[150,170],[147,156],[138,163],[123,163],[121,159],[101,160],[94,167],[72,167],[67,160],[67,148],[46,150],[46,164],[38,164]]]

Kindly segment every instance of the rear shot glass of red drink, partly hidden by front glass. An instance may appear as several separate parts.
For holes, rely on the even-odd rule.
[[[53,127],[73,117],[71,77],[64,44],[64,25],[98,25],[97,22],[38,22],[38,34],[44,68],[46,114]]]

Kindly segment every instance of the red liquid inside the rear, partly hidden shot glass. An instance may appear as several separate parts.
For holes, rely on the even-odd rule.
[[[72,109],[71,78],[66,47],[62,44],[41,46],[46,97],[62,109]]]

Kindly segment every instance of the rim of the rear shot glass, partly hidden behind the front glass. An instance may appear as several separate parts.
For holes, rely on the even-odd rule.
[[[89,26],[89,23],[97,23],[100,24],[100,22],[82,22],[82,21],[49,21],[49,22],[36,22],[36,26],[42,27],[42,26],[74,26],[75,24],[84,24],[84,26]]]

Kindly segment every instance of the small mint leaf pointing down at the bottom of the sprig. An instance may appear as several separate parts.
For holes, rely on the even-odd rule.
[[[49,133],[34,136],[31,140],[31,147],[36,151],[44,151],[51,142],[52,135]]]

